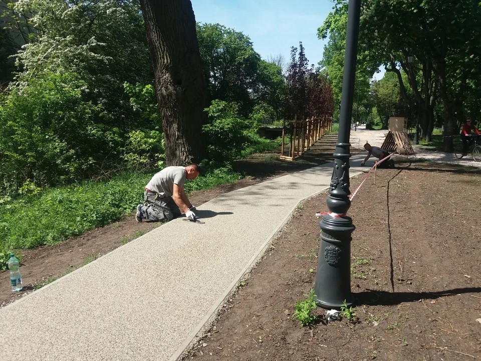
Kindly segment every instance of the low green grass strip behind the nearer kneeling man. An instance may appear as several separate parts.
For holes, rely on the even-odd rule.
[[[0,207],[0,252],[54,245],[88,230],[119,221],[143,202],[143,189],[154,174],[123,173],[108,182],[86,181],[51,188]],[[185,192],[232,183],[242,176],[229,167],[211,170],[185,183]]]

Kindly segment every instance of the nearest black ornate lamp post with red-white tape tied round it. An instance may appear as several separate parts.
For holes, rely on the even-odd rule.
[[[334,167],[327,200],[329,214],[319,222],[321,246],[314,282],[316,303],[324,308],[340,309],[344,300],[347,305],[354,302],[351,294],[351,234],[355,227],[352,219],[346,214],[351,206],[349,200],[351,194],[349,190],[349,157],[351,156],[349,136],[360,14],[361,0],[349,0],[339,132],[336,150],[333,154]]]

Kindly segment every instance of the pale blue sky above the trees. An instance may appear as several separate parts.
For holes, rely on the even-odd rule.
[[[331,11],[331,0],[191,0],[195,20],[219,23],[248,35],[263,59],[282,54],[291,59],[291,46],[302,41],[309,64],[322,59],[326,40],[317,38]],[[383,76],[375,74],[376,79]]]

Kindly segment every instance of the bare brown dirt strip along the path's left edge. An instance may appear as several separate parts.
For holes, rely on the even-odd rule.
[[[195,192],[189,199],[192,204],[199,206],[223,193],[332,161],[336,140],[337,135],[325,135],[296,161],[280,160],[280,150],[253,154],[246,159],[238,160],[234,163],[234,169],[245,174],[245,178],[232,184]],[[353,153],[355,151],[353,150]],[[132,214],[119,222],[86,232],[59,245],[22,250],[23,261],[20,271],[24,290],[12,292],[9,272],[0,273],[0,307],[25,296],[49,279],[72,271],[158,226],[158,223],[137,223]]]

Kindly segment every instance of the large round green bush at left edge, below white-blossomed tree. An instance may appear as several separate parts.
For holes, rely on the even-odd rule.
[[[0,102],[0,192],[83,179],[116,157],[121,137],[75,73],[42,73]]]

